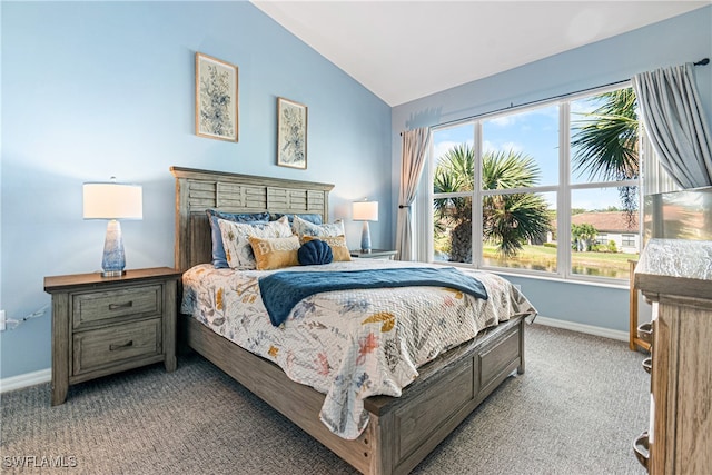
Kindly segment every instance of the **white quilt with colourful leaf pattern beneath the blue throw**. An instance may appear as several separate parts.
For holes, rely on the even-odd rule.
[[[427,265],[356,259],[280,271],[423,266]],[[181,313],[325,394],[322,422],[338,436],[354,439],[368,424],[366,397],[397,397],[418,376],[417,368],[441,353],[512,316],[536,313],[504,278],[458,270],[476,277],[490,298],[443,287],[327,291],[305,298],[274,327],[258,285],[271,271],[205,264],[184,274]]]

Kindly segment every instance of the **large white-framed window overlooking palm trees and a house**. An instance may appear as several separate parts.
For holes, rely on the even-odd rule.
[[[627,87],[434,128],[431,258],[627,279],[640,251],[636,113]]]

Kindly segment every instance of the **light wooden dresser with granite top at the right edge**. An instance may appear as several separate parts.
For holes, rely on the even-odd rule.
[[[653,305],[651,422],[634,442],[651,474],[712,473],[712,241],[651,239],[635,287]]]

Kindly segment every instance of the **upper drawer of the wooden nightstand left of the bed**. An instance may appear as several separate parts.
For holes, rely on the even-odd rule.
[[[105,319],[160,314],[161,286],[128,287],[73,298],[73,327],[81,328]]]

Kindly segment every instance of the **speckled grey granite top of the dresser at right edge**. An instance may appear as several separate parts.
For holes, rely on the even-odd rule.
[[[712,241],[651,239],[635,268],[635,287],[712,299]]]

